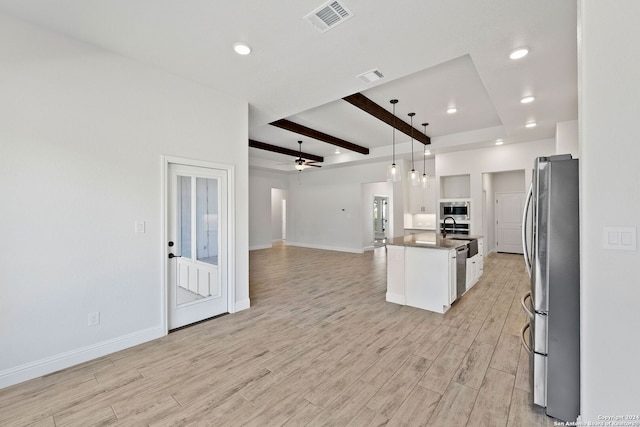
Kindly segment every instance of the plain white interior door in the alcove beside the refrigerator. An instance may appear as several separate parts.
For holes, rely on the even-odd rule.
[[[498,252],[522,253],[524,193],[496,193],[496,247]]]

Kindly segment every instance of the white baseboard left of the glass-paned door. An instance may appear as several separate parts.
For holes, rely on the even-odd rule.
[[[166,331],[163,328],[153,327],[6,369],[0,371],[0,389],[134,347],[165,335]]]

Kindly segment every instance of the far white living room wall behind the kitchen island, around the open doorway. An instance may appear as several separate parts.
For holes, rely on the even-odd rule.
[[[287,244],[362,252],[362,183],[386,181],[387,163],[305,170],[289,175]],[[402,230],[402,183],[393,184],[393,229]],[[391,201],[391,200],[390,200]]]

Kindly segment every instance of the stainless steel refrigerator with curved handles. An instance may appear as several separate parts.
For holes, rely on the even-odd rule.
[[[530,353],[533,403],[575,421],[580,413],[580,221],[578,160],[539,157],[523,213],[531,289],[522,341]],[[528,339],[527,339],[528,335]]]

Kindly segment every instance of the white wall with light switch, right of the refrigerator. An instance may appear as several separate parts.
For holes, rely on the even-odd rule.
[[[603,248],[604,227],[640,219],[640,2],[579,10],[581,406],[598,421],[640,413],[640,252]]]

